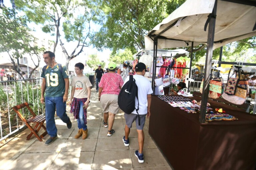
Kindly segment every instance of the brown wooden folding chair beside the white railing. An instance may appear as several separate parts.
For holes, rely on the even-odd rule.
[[[33,117],[29,118],[29,119],[25,119],[22,114],[18,111],[19,109],[25,108],[27,107],[27,109],[29,110],[29,112],[33,115]],[[44,121],[45,121],[45,116],[44,115],[36,115],[32,109],[29,107],[28,103],[22,103],[20,105],[14,106],[12,107],[12,109],[17,113],[17,115],[19,116],[19,118],[26,124],[26,126],[31,130],[31,133],[27,136],[27,140],[30,139],[30,137],[34,134],[39,141],[43,141],[42,138],[47,134],[46,128],[44,126]],[[32,128],[30,126],[29,123],[36,123],[35,127]],[[38,132],[40,130],[40,128],[43,128],[45,130],[45,132],[43,132],[43,134],[41,134],[40,136],[38,135]]]

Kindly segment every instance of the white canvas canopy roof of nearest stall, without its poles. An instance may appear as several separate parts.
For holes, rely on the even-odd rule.
[[[256,30],[253,31],[256,1],[251,2],[254,6],[218,0],[214,49],[256,36]],[[208,33],[204,31],[204,27],[208,15],[213,11],[214,3],[215,0],[184,2],[145,36],[145,49],[153,49],[153,40],[150,37],[155,36],[163,38],[158,40],[158,49],[191,46],[191,42],[194,45],[207,43]]]

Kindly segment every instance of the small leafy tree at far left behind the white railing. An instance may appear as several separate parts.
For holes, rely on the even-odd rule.
[[[44,48],[34,45],[37,39],[30,34],[31,30],[27,26],[27,17],[16,15],[15,10],[9,8],[4,8],[3,13],[0,14],[1,52],[6,52],[14,65],[15,59],[22,58],[24,55],[31,58],[37,56],[39,65],[39,54]],[[35,64],[35,68],[38,65]],[[14,69],[21,75],[19,69],[16,67]]]

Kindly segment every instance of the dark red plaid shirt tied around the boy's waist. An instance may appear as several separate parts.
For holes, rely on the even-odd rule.
[[[72,104],[71,104],[71,108],[70,108],[70,113],[73,113],[75,119],[79,119],[79,108],[80,108],[80,104],[79,102],[82,101],[83,104],[87,101],[87,98],[73,98]],[[84,110],[84,124],[87,124],[87,109],[83,108]]]

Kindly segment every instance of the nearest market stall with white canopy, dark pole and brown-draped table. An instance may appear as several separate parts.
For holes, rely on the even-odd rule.
[[[213,49],[256,36],[255,5],[250,0],[187,0],[145,37],[146,49],[154,49],[154,70],[157,49],[207,43],[200,110],[184,113],[152,97],[149,133],[175,170],[256,167],[255,115],[208,100]],[[237,119],[206,122],[207,101]]]

